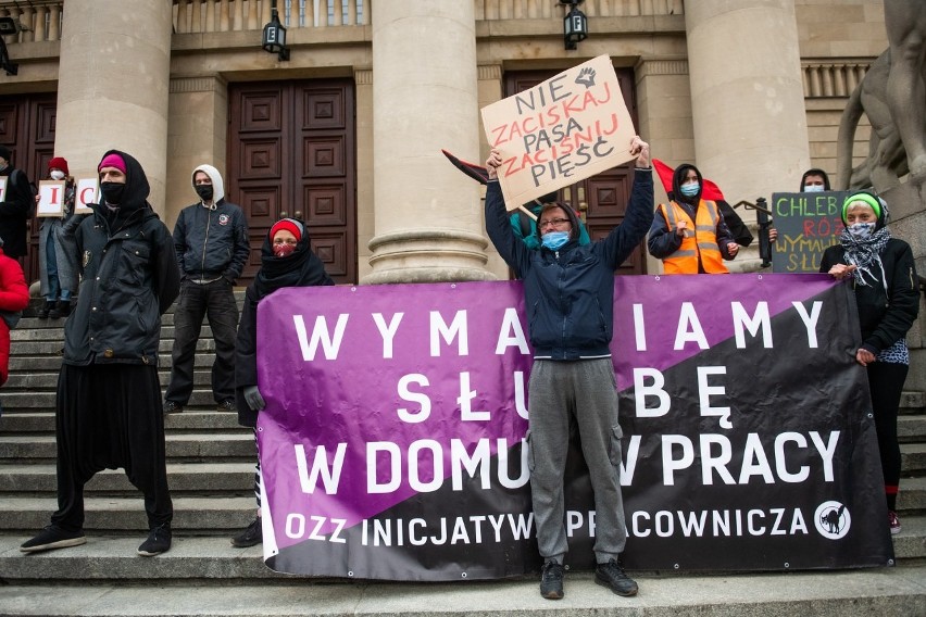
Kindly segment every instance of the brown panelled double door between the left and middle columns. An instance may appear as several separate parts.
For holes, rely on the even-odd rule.
[[[248,217],[253,279],[271,226],[305,221],[312,250],[339,284],[356,284],[356,139],[347,79],[229,86],[228,199]]]

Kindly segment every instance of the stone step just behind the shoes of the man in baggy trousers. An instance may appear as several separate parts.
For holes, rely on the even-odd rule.
[[[136,491],[137,492],[137,491]],[[174,496],[174,519],[171,528],[176,534],[214,534],[232,538],[254,519],[256,502],[250,496],[200,498]],[[145,500],[140,496],[88,498],[84,502],[84,530],[88,534],[127,534],[143,537],[148,531]],[[58,509],[55,498],[10,498],[0,503],[0,529],[21,533],[28,539],[49,524]],[[14,521],[14,522],[11,522]],[[25,541],[25,540],[24,540]]]

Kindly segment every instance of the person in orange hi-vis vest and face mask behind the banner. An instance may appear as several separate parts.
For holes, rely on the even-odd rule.
[[[715,201],[702,197],[704,180],[694,165],[672,176],[670,202],[655,210],[647,248],[665,274],[726,274],[724,260],[739,252]]]

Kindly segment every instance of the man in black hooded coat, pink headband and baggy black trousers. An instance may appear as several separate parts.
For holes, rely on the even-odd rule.
[[[148,178],[125,152],[98,166],[101,203],[77,227],[83,280],[64,325],[58,379],[58,512],[23,552],[76,546],[84,537],[84,484],[123,467],[145,494],[150,533],[142,556],[171,547],[164,417],[158,377],[161,315],[179,291],[167,227],[148,203]]]

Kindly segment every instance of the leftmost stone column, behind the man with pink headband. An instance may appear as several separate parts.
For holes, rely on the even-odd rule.
[[[109,149],[128,152],[162,214],[172,29],[170,2],[68,0],[54,143],[75,177],[96,174]]]

